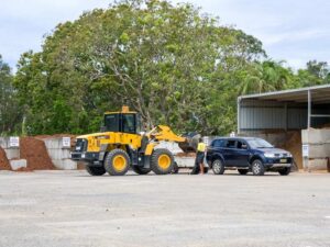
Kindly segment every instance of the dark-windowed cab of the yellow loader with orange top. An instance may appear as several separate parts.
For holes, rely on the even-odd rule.
[[[139,134],[141,132],[140,115],[123,106],[121,112],[106,112],[103,132]]]

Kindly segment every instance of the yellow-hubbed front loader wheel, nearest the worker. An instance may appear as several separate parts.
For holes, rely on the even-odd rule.
[[[168,175],[173,171],[174,157],[166,148],[155,149],[151,156],[151,167],[156,175]]]

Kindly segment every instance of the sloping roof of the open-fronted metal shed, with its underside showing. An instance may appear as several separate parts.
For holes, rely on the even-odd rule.
[[[308,91],[311,93],[311,101],[314,104],[328,104],[330,103],[330,85],[322,85],[309,88],[300,88],[293,90],[265,92],[250,96],[241,96],[239,100],[263,100],[263,101],[277,101],[277,102],[308,102]]]

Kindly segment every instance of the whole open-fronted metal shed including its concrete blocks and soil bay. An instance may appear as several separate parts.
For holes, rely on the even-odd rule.
[[[238,134],[289,150],[300,169],[330,171],[330,85],[239,97]]]

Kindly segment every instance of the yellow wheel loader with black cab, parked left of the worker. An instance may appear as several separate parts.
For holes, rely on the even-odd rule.
[[[193,142],[178,136],[168,126],[158,125],[148,133],[141,128],[140,115],[123,106],[121,112],[106,112],[101,133],[76,138],[72,159],[84,161],[91,176],[123,176],[130,168],[139,175],[173,171],[174,156],[165,148],[156,148],[161,141],[176,142],[184,149]]]

